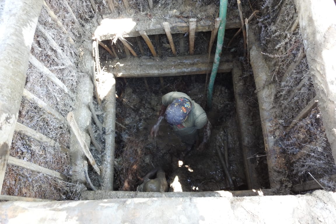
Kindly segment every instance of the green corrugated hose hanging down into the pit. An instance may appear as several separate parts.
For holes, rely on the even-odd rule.
[[[225,25],[226,25],[226,11],[227,11],[227,0],[220,0],[219,5],[219,17],[221,18],[219,28],[218,28],[218,35],[217,35],[217,47],[216,47],[216,54],[213,61],[212,71],[209,80],[208,86],[208,108],[212,106],[212,92],[213,92],[213,85],[215,83],[215,78],[218,71],[219,60],[220,60],[220,53],[222,52],[223,47],[223,40],[225,34]]]

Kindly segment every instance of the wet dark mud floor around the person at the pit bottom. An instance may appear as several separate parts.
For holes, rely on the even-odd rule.
[[[206,109],[205,75],[164,77],[164,88],[159,78],[146,79],[149,91],[143,78],[129,78],[127,84],[123,79],[117,79],[117,189],[136,190],[140,178],[158,166],[166,172],[169,191],[230,189],[216,149],[219,146],[224,154],[226,135],[229,173],[238,189],[247,189],[231,74],[217,75],[216,81],[226,81],[215,82],[211,110]],[[195,148],[184,159],[181,159],[180,153],[186,146],[174,135],[165,120],[161,122],[158,135],[155,138],[150,135],[162,104],[161,96],[170,91],[188,94],[206,110],[212,124],[211,137],[204,150]],[[199,136],[201,141],[203,129]]]

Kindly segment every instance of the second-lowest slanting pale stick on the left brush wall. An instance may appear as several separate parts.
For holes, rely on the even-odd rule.
[[[25,134],[31,138],[34,138],[40,142],[45,142],[48,143],[48,145],[55,147],[55,148],[59,148],[60,150],[64,151],[64,152],[69,152],[70,149],[64,146],[61,146],[58,142],[55,142],[53,139],[48,138],[47,136],[41,134],[40,132],[37,132],[23,124],[20,124],[18,122],[16,122],[15,125],[15,131],[16,132],[20,132],[22,134]]]

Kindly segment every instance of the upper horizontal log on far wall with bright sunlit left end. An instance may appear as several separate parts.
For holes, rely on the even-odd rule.
[[[214,6],[216,7],[216,6]],[[189,24],[186,23],[187,18],[180,18],[179,10],[176,12],[169,10],[160,10],[158,14],[150,11],[152,20],[148,18],[147,13],[141,13],[141,15],[136,16],[136,23],[129,19],[107,19],[105,18],[100,26],[94,31],[94,38],[97,38],[98,41],[103,40],[113,40],[118,35],[122,34],[123,37],[138,37],[140,36],[139,31],[146,32],[147,35],[156,35],[156,34],[166,34],[164,27],[162,26],[163,22],[167,22],[170,25],[170,33],[187,33],[189,32]],[[237,29],[241,27],[241,22],[239,20],[238,10],[232,10],[227,15],[227,22],[225,29]],[[168,19],[164,18],[169,14]],[[202,21],[200,21],[195,32],[208,32],[213,30],[214,20],[212,16],[209,17],[209,14],[206,10],[200,10],[195,12],[196,15],[200,15]],[[120,24],[125,24],[125,30],[123,28],[116,29],[120,27]]]

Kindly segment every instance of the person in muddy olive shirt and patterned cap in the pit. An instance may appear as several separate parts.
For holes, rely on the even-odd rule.
[[[204,128],[203,141],[196,145],[203,150],[210,137],[211,124],[204,109],[182,92],[169,92],[162,96],[159,118],[152,127],[151,136],[156,137],[162,119],[165,118],[172,126],[174,133],[186,144],[182,156],[186,156],[195,143],[198,143],[198,130]]]

